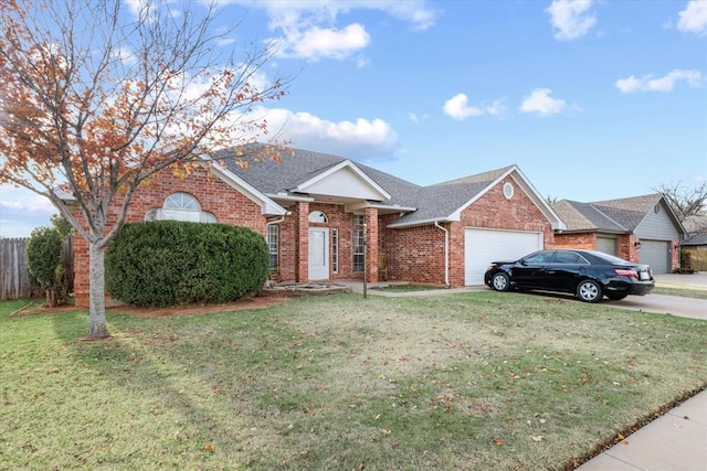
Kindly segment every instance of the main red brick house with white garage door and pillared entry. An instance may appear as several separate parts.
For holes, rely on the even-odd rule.
[[[279,161],[253,146],[217,156],[180,179],[140,186],[127,221],[247,226],[266,238],[279,281],[388,280],[483,283],[490,261],[551,247],[564,225],[516,165],[420,186],[342,157],[291,150]],[[257,161],[256,161],[257,160]],[[75,244],[77,306],[88,302],[87,247]]]

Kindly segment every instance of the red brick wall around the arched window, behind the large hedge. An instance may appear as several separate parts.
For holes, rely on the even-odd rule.
[[[169,169],[160,172],[149,184],[136,190],[126,222],[145,221],[145,214],[149,210],[161,207],[167,196],[177,192],[194,196],[201,204],[201,211],[212,213],[219,223],[250,227],[266,235],[266,221],[261,207],[204,169],[197,169],[183,179],[176,176]],[[117,220],[118,206],[114,205],[110,210],[108,227],[113,227]],[[76,306],[87,307],[88,245],[80,236],[74,237],[74,270]]]

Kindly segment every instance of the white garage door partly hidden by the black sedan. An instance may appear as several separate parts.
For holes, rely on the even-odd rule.
[[[464,236],[464,285],[484,285],[488,264],[517,260],[542,249],[542,233],[521,231],[466,229]]]

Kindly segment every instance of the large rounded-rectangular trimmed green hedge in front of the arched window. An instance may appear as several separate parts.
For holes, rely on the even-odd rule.
[[[126,224],[106,251],[106,289],[135,306],[229,302],[260,291],[270,255],[262,235],[225,224]]]

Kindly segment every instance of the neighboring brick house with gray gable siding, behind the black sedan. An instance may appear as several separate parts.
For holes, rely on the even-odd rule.
[[[552,205],[567,225],[555,235],[555,247],[600,250],[641,264],[655,274],[679,266],[685,229],[661,193],[620,200]]]

